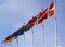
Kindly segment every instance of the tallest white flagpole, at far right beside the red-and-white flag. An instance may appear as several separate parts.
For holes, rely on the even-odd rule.
[[[56,0],[54,0],[55,16],[54,16],[54,27],[55,27],[55,47],[57,47],[57,22],[56,22]]]

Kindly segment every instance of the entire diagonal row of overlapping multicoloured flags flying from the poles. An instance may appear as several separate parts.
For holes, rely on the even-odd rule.
[[[9,43],[13,39],[16,39],[17,36],[23,35],[25,31],[30,30],[31,27],[35,26],[35,24],[36,25],[41,24],[42,21],[48,19],[49,15],[50,16],[54,15],[54,2],[52,2],[50,7],[48,7],[46,10],[42,10],[36,16],[32,16],[32,19],[30,19],[25,26],[22,26],[21,28],[15,31],[13,34],[9,35],[4,40],[2,40],[2,43]]]

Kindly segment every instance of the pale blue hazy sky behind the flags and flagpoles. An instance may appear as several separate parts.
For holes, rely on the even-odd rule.
[[[0,0],[0,42],[27,24],[41,9],[49,7],[54,0]],[[58,47],[65,47],[65,0],[56,0]],[[42,28],[42,24],[44,28]],[[55,47],[54,16],[34,27],[34,47]],[[0,47],[17,47],[17,42],[1,44]],[[18,47],[24,47],[24,35],[18,36]],[[25,32],[25,47],[32,47],[32,28]]]

